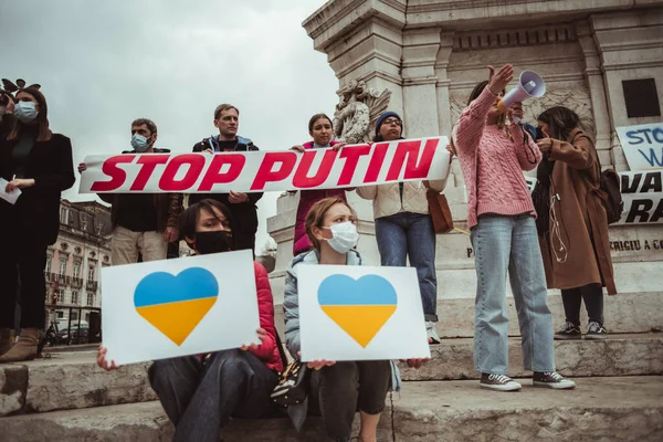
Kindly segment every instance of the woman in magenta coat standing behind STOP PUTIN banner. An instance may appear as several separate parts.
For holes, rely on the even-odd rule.
[[[313,141],[304,143],[303,145],[293,146],[293,150],[305,152],[306,149],[324,149],[334,148],[340,149],[345,143],[333,141],[334,126],[332,119],[325,114],[315,114],[308,120],[308,134],[313,137]],[[297,206],[297,217],[295,220],[295,238],[293,241],[293,255],[307,252],[313,249],[313,244],[306,234],[305,221],[306,214],[317,201],[325,198],[340,198],[346,201],[346,191],[354,189],[312,189],[299,191],[299,204]]]

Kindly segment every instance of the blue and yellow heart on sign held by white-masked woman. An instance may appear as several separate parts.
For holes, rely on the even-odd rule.
[[[318,287],[318,303],[332,320],[366,348],[396,312],[398,297],[382,276],[354,280],[332,275]]]

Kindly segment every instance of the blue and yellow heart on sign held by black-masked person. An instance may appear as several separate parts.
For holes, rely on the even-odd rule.
[[[134,291],[134,305],[155,328],[180,346],[208,314],[219,296],[219,282],[208,270],[191,267],[177,276],[156,272]]]

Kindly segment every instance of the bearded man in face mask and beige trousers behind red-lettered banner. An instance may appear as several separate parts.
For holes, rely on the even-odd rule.
[[[168,154],[154,147],[157,125],[148,118],[131,123],[131,147],[123,154]],[[87,166],[78,165],[78,171]],[[179,240],[177,220],[182,211],[181,193],[98,193],[110,203],[110,259],[113,265],[166,260],[168,244]]]

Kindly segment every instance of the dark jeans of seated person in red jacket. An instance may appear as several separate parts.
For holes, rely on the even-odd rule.
[[[218,442],[230,417],[263,418],[274,410],[276,373],[250,351],[217,351],[155,361],[149,381],[175,424],[173,441]]]

